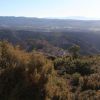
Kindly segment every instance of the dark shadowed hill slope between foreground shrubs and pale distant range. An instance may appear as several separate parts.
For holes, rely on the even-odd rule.
[[[26,30],[0,30],[0,40],[20,44],[27,51],[38,50],[51,55],[63,55],[77,44],[81,54],[100,53],[100,34],[87,32],[36,32]]]

